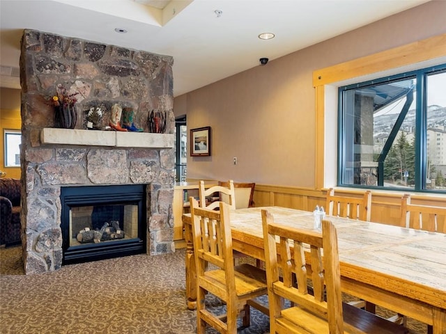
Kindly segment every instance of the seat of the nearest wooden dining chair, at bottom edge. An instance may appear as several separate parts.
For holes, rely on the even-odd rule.
[[[407,334],[406,327],[394,324],[387,319],[383,319],[370,312],[356,308],[348,303],[342,303],[344,313],[344,333],[348,334]],[[307,310],[294,306],[282,310],[282,317],[277,319],[284,333],[300,333],[295,332],[293,328],[299,326],[310,333],[329,334],[327,321],[322,317],[318,317]]]

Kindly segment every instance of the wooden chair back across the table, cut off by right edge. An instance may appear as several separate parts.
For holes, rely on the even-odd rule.
[[[446,233],[446,207],[417,205],[410,202],[410,195],[401,198],[400,225],[429,232]]]

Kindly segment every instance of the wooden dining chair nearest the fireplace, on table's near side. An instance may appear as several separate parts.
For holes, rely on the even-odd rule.
[[[199,207],[192,197],[190,203],[197,266],[197,333],[204,334],[206,326],[212,326],[220,333],[236,334],[239,316],[243,316],[243,326],[249,326],[249,305],[268,314],[265,305],[252,300],[267,293],[265,271],[250,264],[234,267],[229,205],[219,202],[219,210],[208,209]],[[208,293],[224,301],[224,315],[207,308]]]

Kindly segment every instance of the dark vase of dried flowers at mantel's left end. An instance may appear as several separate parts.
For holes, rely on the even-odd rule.
[[[54,106],[54,126],[74,129],[77,121],[76,95],[78,92],[69,94],[61,85],[56,87],[56,95],[51,99]]]

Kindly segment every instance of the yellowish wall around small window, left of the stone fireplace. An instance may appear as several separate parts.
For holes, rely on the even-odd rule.
[[[0,88],[0,170],[6,172],[6,177],[20,179],[20,167],[5,168],[4,136],[3,129],[21,129],[20,118],[20,90]]]

